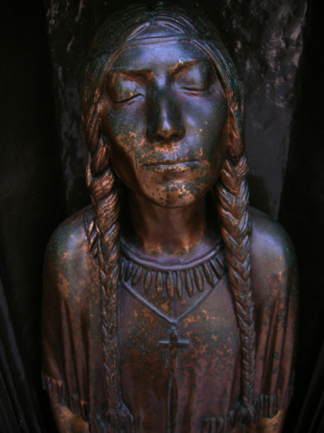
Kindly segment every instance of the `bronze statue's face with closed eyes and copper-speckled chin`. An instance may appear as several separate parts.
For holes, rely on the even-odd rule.
[[[227,100],[190,41],[137,44],[107,74],[101,129],[119,178],[163,207],[203,197],[223,166]]]

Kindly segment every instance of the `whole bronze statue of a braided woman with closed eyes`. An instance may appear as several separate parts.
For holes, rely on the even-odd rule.
[[[127,9],[97,34],[81,87],[92,206],[45,263],[60,431],[281,431],[295,262],[248,209],[241,98],[214,27],[176,6]]]

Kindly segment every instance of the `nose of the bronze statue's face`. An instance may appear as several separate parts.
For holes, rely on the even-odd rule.
[[[148,103],[148,140],[152,143],[174,144],[185,136],[180,107],[171,90],[155,90]]]

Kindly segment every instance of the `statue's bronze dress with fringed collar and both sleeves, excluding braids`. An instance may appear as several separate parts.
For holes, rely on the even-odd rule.
[[[281,226],[254,210],[252,217],[254,405],[262,419],[291,399],[296,265]],[[48,246],[43,386],[53,402],[101,432],[107,396],[90,219],[90,208],[71,216]],[[122,245],[119,371],[137,433],[241,431],[233,421],[241,392],[240,338],[225,263],[222,243],[195,263],[167,269]]]

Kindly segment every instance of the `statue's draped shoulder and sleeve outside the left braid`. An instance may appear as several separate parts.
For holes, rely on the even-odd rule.
[[[75,410],[79,410],[78,394],[83,399],[83,390],[87,390],[79,373],[85,369],[89,322],[93,305],[97,305],[97,299],[92,302],[94,296],[91,298],[98,273],[88,248],[86,212],[81,210],[56,228],[43,270],[44,384],[52,399],[75,399]]]

